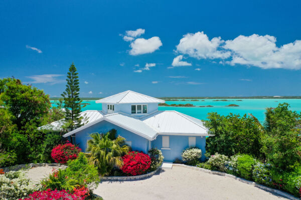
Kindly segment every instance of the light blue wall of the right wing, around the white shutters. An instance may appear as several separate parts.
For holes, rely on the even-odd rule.
[[[155,140],[152,141],[151,147],[157,147],[160,149],[164,155],[164,161],[174,161],[176,158],[181,158],[181,152],[189,147],[188,136],[182,135],[167,135],[169,136],[170,149],[161,149],[162,148],[162,135],[158,135]],[[202,160],[205,159],[205,145],[206,137],[205,136],[196,136],[196,146],[202,150]]]

